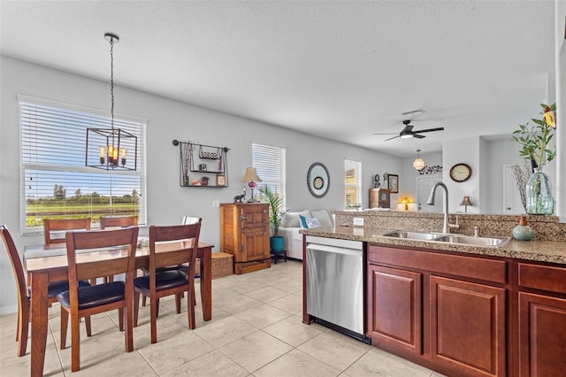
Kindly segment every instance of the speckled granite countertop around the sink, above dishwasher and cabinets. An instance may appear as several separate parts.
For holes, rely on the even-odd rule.
[[[516,258],[538,262],[566,265],[566,243],[559,241],[516,241],[511,239],[501,247],[471,246],[458,243],[436,241],[414,241],[402,238],[383,237],[388,232],[399,229],[379,227],[317,227],[302,229],[303,235],[340,238],[343,240],[374,242],[381,244],[447,250],[467,254],[485,255],[501,258]]]

